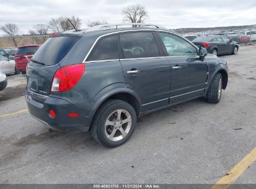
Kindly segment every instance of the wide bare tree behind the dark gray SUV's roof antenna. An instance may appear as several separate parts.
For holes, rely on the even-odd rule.
[[[78,29],[80,28],[81,25],[81,19],[79,17],[57,17],[57,18],[52,18],[50,23],[49,23],[49,28],[52,30],[52,32],[55,33],[61,33],[65,32],[67,30],[73,29],[73,26],[70,24],[70,22],[67,20],[70,19],[73,25]]]

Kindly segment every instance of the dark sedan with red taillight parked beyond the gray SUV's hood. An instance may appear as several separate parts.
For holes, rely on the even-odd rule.
[[[237,54],[239,45],[224,35],[203,35],[192,40],[197,47],[204,47],[214,55]]]

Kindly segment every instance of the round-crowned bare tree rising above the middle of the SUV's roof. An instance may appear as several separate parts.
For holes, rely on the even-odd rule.
[[[140,4],[130,5],[123,8],[123,19],[131,23],[143,23],[148,17],[145,6]]]

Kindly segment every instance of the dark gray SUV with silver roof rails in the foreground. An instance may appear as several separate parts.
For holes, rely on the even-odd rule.
[[[225,60],[155,25],[120,27],[52,35],[27,65],[31,116],[116,147],[145,114],[199,97],[220,101]]]

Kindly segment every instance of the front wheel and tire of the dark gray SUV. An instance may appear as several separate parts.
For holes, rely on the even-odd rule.
[[[220,87],[220,92],[219,92],[219,87]],[[221,94],[222,94],[222,75],[221,73],[217,73],[214,76],[207,93],[208,103],[214,103],[214,104],[219,103]]]

